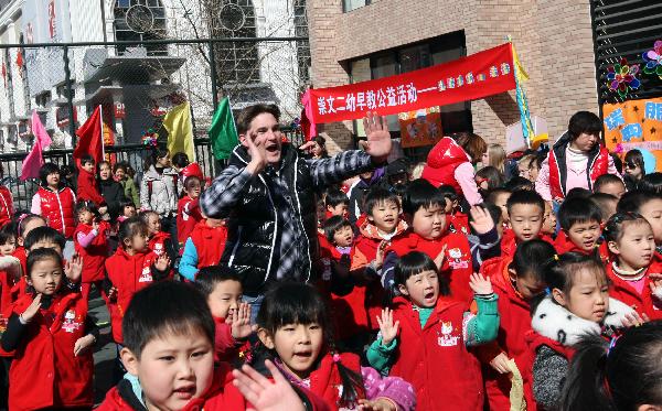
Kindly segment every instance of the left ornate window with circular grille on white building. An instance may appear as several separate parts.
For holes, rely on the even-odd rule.
[[[161,40],[167,37],[166,33],[166,9],[161,0],[117,0],[115,3],[115,30],[116,41],[145,41]],[[125,54],[128,50],[140,46],[118,45],[117,54]],[[166,44],[146,45],[148,55],[167,55]]]

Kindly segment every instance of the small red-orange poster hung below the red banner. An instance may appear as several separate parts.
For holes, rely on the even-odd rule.
[[[444,137],[439,107],[417,111],[401,112],[401,144],[403,149],[434,145]]]

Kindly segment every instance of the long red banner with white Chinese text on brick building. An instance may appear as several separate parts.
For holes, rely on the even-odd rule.
[[[310,89],[311,122],[359,119],[484,98],[515,88],[510,43],[433,67],[346,86]]]

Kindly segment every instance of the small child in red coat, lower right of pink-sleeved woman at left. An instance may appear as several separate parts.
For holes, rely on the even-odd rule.
[[[102,290],[102,282],[105,277],[104,261],[108,258],[110,225],[97,219],[96,207],[92,202],[76,204],[76,216],[79,224],[76,231],[74,231],[74,247],[76,253],[83,258],[81,292],[83,298],[87,299],[92,284],[95,284],[98,291]]]

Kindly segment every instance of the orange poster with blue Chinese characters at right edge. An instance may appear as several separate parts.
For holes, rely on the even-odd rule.
[[[602,116],[609,151],[620,155],[633,149],[649,151],[656,159],[656,171],[662,170],[662,98],[604,105]]]

